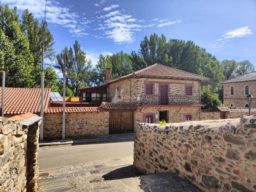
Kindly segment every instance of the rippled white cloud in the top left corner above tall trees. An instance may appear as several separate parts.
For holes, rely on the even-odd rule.
[[[37,19],[44,19],[45,0],[1,0],[2,3],[7,3],[9,6],[17,6],[17,9],[29,9]],[[63,7],[58,1],[47,1],[46,20],[48,23],[62,25],[68,28],[68,31],[76,37],[87,35],[85,29],[90,23],[85,17],[72,12],[69,7]],[[83,22],[81,22],[83,21]]]

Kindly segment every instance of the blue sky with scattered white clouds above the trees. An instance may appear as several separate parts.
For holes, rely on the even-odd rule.
[[[42,21],[44,0],[0,0],[19,13],[28,8]],[[78,40],[95,64],[99,54],[138,50],[152,33],[193,40],[220,61],[249,60],[256,66],[255,0],[47,1],[55,51]]]

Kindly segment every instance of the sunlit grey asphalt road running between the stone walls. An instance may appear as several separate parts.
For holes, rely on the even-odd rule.
[[[50,170],[80,163],[133,155],[134,142],[106,144],[55,145],[39,148],[39,168]]]

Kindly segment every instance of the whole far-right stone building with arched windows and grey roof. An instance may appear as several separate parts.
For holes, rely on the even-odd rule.
[[[246,96],[249,93],[256,96],[256,71],[224,81],[223,89],[224,104],[230,107],[249,107]],[[256,107],[256,101],[251,105]]]

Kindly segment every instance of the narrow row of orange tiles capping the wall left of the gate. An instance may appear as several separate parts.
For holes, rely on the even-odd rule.
[[[99,107],[66,107],[65,112],[66,113],[72,113],[72,112],[100,112],[101,110]],[[47,110],[45,110],[45,113],[61,113],[62,107],[48,107]]]

